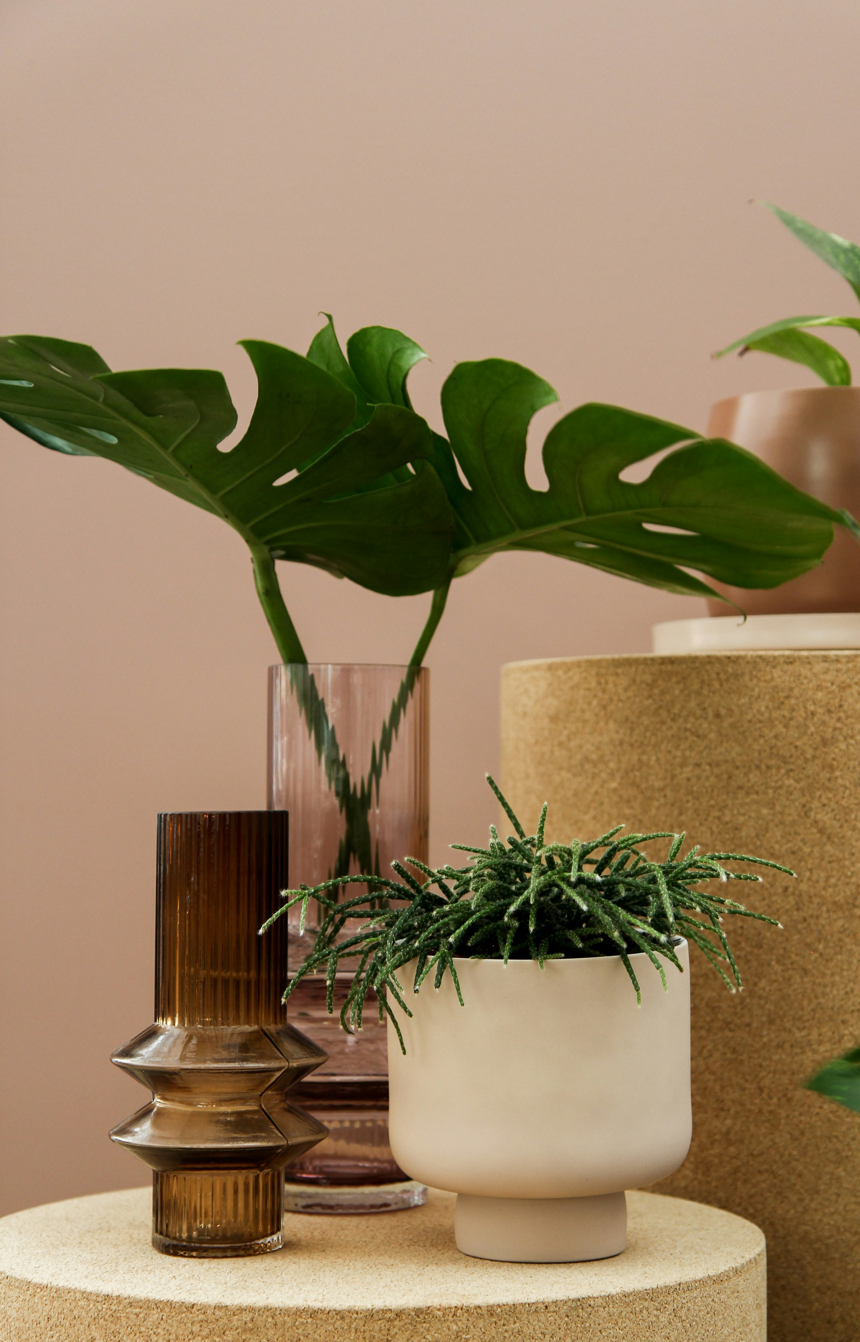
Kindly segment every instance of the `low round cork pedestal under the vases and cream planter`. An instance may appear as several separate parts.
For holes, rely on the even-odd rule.
[[[453,1244],[453,1197],[385,1216],[288,1216],[252,1259],[150,1243],[150,1190],[0,1221],[3,1342],[763,1342],[765,1240],[714,1208],[629,1193],[628,1248],[576,1264],[484,1263]]]

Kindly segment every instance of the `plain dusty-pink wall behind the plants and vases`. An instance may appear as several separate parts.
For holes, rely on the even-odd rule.
[[[702,428],[808,381],[711,349],[849,298],[747,201],[860,236],[859,39],[851,0],[4,0],[0,327],[221,368],[244,424],[233,342],[305,349],[327,309],[431,352],[433,421],[452,364],[499,354],[566,408]],[[107,1055],[152,1013],[154,816],[264,804],[274,647],[225,527],[0,428],[12,1210],[145,1181],[105,1134],[144,1098]],[[408,656],[427,599],[282,577],[311,658]],[[435,852],[491,817],[500,663],[698,613],[541,557],[458,582],[428,659]]]

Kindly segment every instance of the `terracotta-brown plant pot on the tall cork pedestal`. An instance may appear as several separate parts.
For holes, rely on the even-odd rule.
[[[860,517],[860,386],[731,396],[711,407],[707,436],[746,447],[792,484]],[[840,526],[824,562],[792,582],[759,592],[712,585],[747,615],[860,611],[860,546]],[[708,611],[730,613],[722,601]]]

